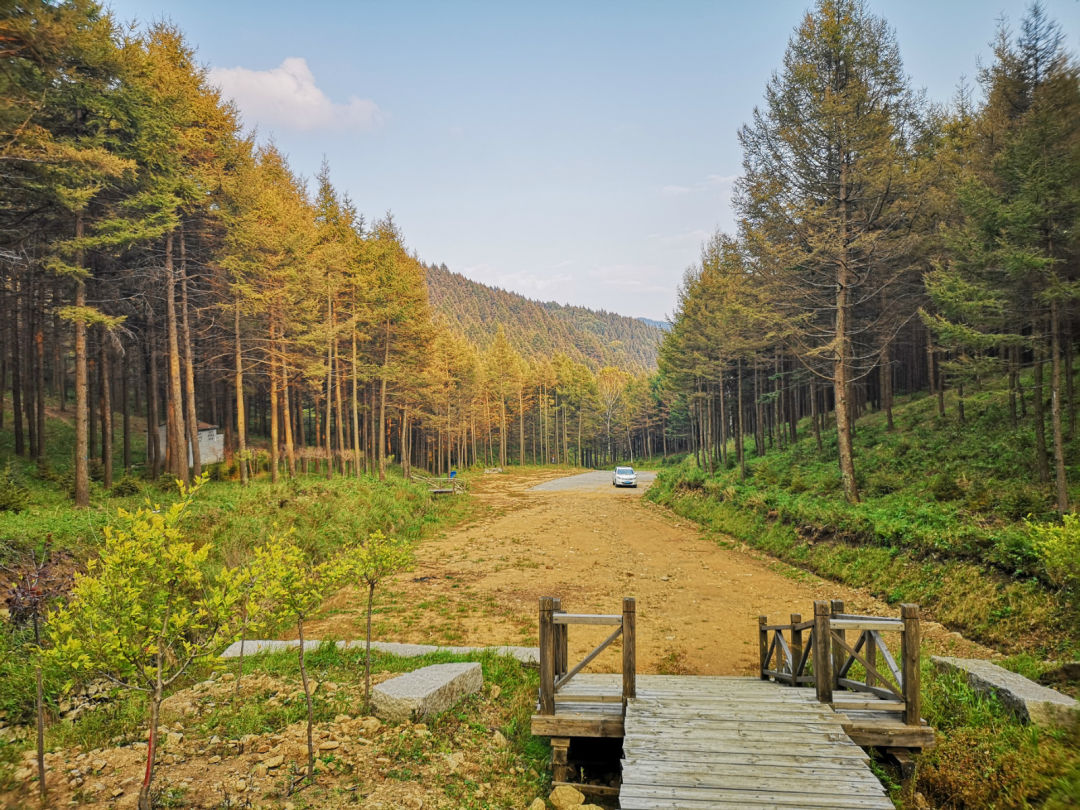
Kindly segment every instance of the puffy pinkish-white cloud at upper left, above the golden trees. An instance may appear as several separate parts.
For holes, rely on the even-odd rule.
[[[269,70],[213,68],[210,78],[235,100],[248,123],[269,129],[367,132],[386,118],[369,98],[351,96],[345,104],[330,100],[301,56],[289,56]]]

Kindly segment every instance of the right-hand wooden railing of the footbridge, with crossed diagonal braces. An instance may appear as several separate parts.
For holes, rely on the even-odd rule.
[[[883,633],[899,635],[899,663]],[[812,684],[822,703],[833,703],[835,690],[863,692],[872,700],[845,700],[843,705],[902,712],[906,725],[918,726],[920,640],[918,605],[901,605],[900,617],[893,618],[846,613],[838,599],[816,600],[810,621],[793,613],[786,624],[769,624],[768,617],[758,617],[760,677]]]

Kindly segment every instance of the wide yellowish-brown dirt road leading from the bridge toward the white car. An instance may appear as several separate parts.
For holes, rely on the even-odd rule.
[[[413,571],[378,602],[374,636],[460,645],[537,643],[537,605],[558,596],[572,612],[618,612],[637,599],[643,673],[747,674],[757,665],[757,617],[798,612],[841,598],[851,612],[899,615],[865,593],[826,582],[741,548],[706,538],[689,522],[616,489],[609,472],[489,475],[473,487],[473,521],[420,544]],[[362,637],[362,599],[342,592],[311,637]],[[570,654],[583,654],[607,629],[575,626]],[[940,625],[928,644],[954,654],[987,654]],[[618,669],[618,654],[595,671]]]

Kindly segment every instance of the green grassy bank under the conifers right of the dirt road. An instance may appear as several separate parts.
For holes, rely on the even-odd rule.
[[[1054,521],[1049,486],[1032,483],[1031,430],[1013,428],[1008,392],[966,401],[967,423],[914,397],[864,416],[855,431],[863,500],[848,503],[836,436],[818,451],[808,426],[794,445],[737,469],[701,470],[693,456],[662,469],[647,497],[718,534],[889,603],[916,602],[972,638],[1007,651],[1080,651],[1080,612],[1050,581],[1028,521]],[[951,406],[950,406],[951,407]],[[733,468],[733,453],[730,454]],[[1069,444],[1080,480],[1080,440]],[[1072,498],[1080,498],[1074,487]]]

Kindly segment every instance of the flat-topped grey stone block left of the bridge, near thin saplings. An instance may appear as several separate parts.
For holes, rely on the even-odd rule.
[[[434,664],[391,678],[372,690],[375,714],[394,723],[445,712],[484,686],[477,663]]]

